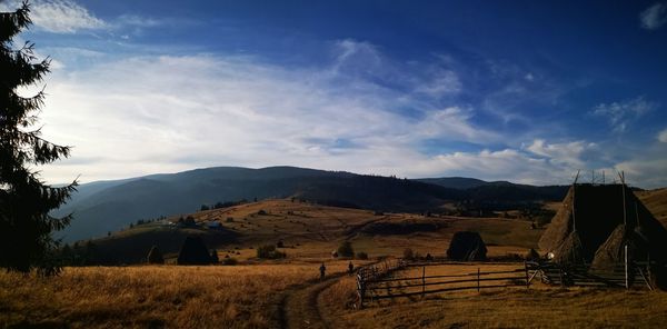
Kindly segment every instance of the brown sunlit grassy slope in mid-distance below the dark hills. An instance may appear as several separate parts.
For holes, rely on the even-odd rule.
[[[260,210],[266,215],[258,215]],[[136,260],[150,246],[157,245],[165,253],[178,251],[187,233],[201,235],[209,248],[240,260],[253,257],[251,248],[282,240],[288,257],[328,257],[342,240],[350,240],[357,251],[374,256],[400,256],[405,248],[426,255],[444,256],[454,232],[479,231],[490,246],[492,256],[524,252],[536,246],[541,230],[530,230],[522,220],[498,218],[424,217],[409,213],[375,216],[372,211],[326,207],[277,199],[252,202],[228,209],[192,213],[196,221],[219,221],[221,230],[176,229],[150,223],[121,231],[96,243],[104,252],[123,252]],[[228,222],[227,219],[233,221]],[[176,220],[171,218],[170,220]],[[240,253],[240,255],[237,255]]]

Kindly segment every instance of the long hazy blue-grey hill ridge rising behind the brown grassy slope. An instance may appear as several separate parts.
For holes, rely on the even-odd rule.
[[[441,186],[389,177],[295,167],[219,167],[120,181],[82,185],[56,215],[74,213],[60,237],[100,237],[138,219],[196,211],[219,201],[296,197],[322,205],[384,211],[424,211],[466,193]]]

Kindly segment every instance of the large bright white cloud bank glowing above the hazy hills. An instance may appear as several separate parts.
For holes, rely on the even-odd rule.
[[[412,148],[424,138],[492,136],[474,127],[469,109],[438,109],[356,77],[252,58],[135,57],[56,72],[48,86],[44,136],[74,144],[74,158],[97,159],[44,167],[53,181],[219,164],[398,173],[420,157]],[[404,107],[425,116],[406,118]]]

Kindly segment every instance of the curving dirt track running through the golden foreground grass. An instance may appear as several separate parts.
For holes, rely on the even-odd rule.
[[[321,315],[318,296],[346,275],[336,273],[323,281],[310,281],[287,290],[279,306],[280,328],[331,328]]]

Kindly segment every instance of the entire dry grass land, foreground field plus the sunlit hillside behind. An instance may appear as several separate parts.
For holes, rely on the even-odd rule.
[[[664,205],[659,196],[640,195],[654,212]],[[198,222],[219,221],[233,232],[233,241],[209,248],[217,248],[220,259],[226,256],[238,259],[239,266],[66,268],[62,276],[49,279],[2,272],[0,327],[659,328],[667,322],[666,292],[564,290],[541,283],[530,289],[482,288],[481,292],[450,291],[424,299],[419,296],[386,299],[356,310],[352,309],[355,277],[341,275],[348,261],[330,258],[331,250],[344,240],[351,241],[356,251],[365,251],[371,258],[401,256],[406,248],[421,256],[428,252],[442,257],[451,236],[459,230],[480,232],[491,257],[524,253],[537,245],[542,232],[530,229],[525,220],[375,215],[291,200],[252,202],[192,216]],[[131,242],[137,232],[150,229],[140,226],[109,240]],[[287,253],[287,259],[256,258],[257,246],[279,240],[285,243],[280,250]],[[327,262],[329,278],[319,281],[318,267],[322,260]],[[427,267],[426,275],[520,267],[519,263],[440,265]],[[408,268],[397,276],[419,277],[421,270]]]

